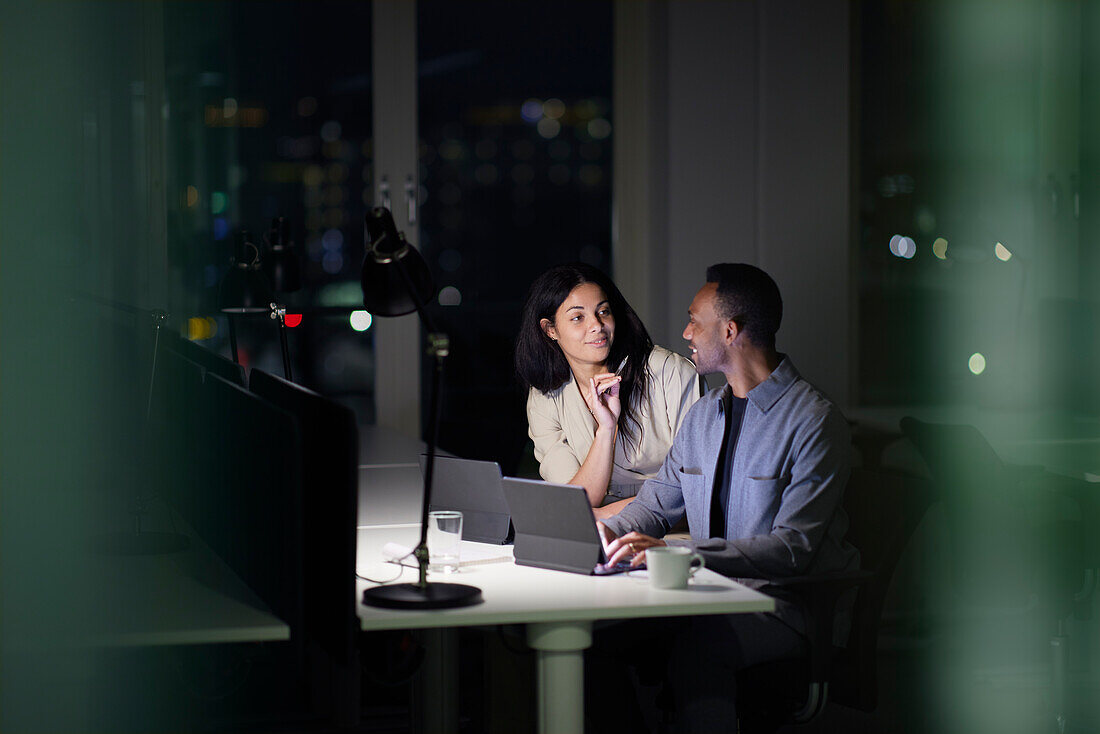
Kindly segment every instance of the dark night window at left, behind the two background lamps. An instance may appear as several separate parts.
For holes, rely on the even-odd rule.
[[[248,230],[270,256],[286,218],[301,289],[287,306],[295,382],[373,420],[371,319],[361,309],[371,205],[371,4],[169,2],[165,7],[168,241],[184,336],[230,354],[218,285]],[[252,256],[251,250],[250,256]],[[240,360],[282,375],[275,322],[234,317]]]

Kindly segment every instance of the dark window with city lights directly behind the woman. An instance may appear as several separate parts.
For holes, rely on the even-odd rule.
[[[527,440],[528,286],[566,262],[613,271],[612,10],[418,3],[420,242],[451,337],[440,445],[506,471]]]

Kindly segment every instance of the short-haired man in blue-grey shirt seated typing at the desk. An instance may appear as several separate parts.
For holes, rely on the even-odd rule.
[[[682,545],[748,585],[858,566],[840,507],[847,424],[776,351],[782,311],[760,269],[707,269],[683,337],[700,374],[721,372],[726,384],[691,408],[658,475],[604,522],[613,562],[638,565],[647,548]],[[691,539],[662,540],[683,517]],[[701,616],[676,628],[672,682],[685,731],[736,731],[734,675],[798,655],[804,628],[784,600],[774,614]]]

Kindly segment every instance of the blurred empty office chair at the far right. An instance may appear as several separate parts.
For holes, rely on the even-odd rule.
[[[1042,467],[1005,463],[968,425],[905,417],[901,429],[939,485],[952,537],[955,595],[978,618],[1045,616],[1050,629],[1052,717],[1066,727],[1063,621],[1088,614],[1098,566],[1086,516],[1091,487]]]

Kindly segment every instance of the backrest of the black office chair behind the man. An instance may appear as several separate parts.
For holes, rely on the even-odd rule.
[[[875,576],[853,610],[848,645],[838,650],[829,680],[836,703],[872,711],[878,704],[878,635],[890,579],[898,560],[935,500],[928,480],[888,469],[856,468],[845,490],[847,538],[859,548],[860,566]]]

